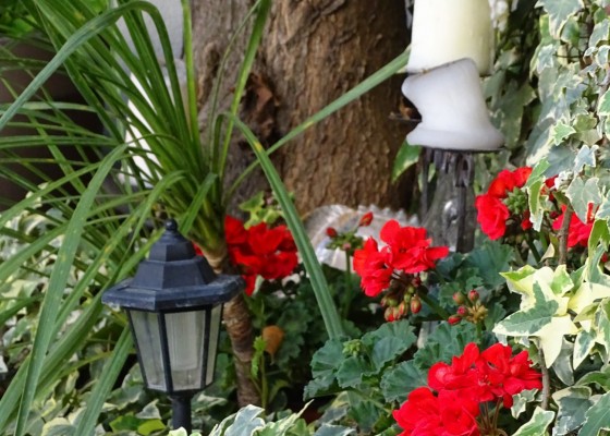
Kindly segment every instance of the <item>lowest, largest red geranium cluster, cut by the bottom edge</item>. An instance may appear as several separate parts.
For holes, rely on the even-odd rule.
[[[402,436],[496,434],[497,423],[489,416],[480,416],[479,404],[496,401],[510,408],[513,395],[540,389],[540,373],[532,368],[526,351],[513,356],[512,349],[501,343],[483,352],[475,343],[468,343],[461,356],[452,359],[451,365],[435,364],[428,373],[429,387],[412,391],[393,416],[403,428]]]

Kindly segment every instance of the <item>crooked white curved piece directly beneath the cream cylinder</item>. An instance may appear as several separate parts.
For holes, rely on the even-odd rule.
[[[480,78],[472,59],[408,76],[402,93],[422,114],[406,136],[412,145],[430,148],[492,152],[504,137],[489,121]]]

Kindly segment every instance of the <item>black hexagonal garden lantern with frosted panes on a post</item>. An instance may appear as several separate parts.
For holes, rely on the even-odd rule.
[[[222,303],[242,288],[239,276],[217,276],[169,220],[135,277],[101,298],[127,312],[144,382],[172,399],[174,428],[192,429],[191,398],[213,380]]]

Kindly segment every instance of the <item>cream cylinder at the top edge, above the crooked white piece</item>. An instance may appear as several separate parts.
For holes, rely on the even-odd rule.
[[[407,72],[471,58],[486,75],[491,72],[492,51],[488,0],[415,0]]]

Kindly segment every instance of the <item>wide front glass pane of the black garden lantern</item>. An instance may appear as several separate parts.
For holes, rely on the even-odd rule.
[[[203,387],[207,311],[166,314],[173,390]]]

